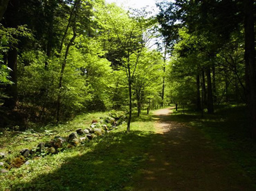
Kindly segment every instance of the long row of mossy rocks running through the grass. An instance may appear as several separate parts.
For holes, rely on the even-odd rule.
[[[24,148],[19,152],[19,156],[15,159],[12,159],[9,168],[19,168],[21,165],[26,163],[28,158],[33,158],[37,156],[42,156],[46,154],[57,154],[62,152],[66,148],[72,148],[76,145],[83,144],[86,141],[91,141],[95,137],[101,137],[105,133],[110,132],[111,130],[117,128],[118,125],[122,124],[125,121],[126,117],[124,114],[116,114],[112,112],[109,114],[109,117],[100,118],[100,121],[93,119],[89,128],[78,128],[71,134],[68,134],[67,137],[56,136],[46,143],[39,143],[36,149],[29,150]],[[6,154],[0,153],[0,159],[4,159]],[[0,173],[6,173],[6,169],[3,168],[3,163],[0,165]]]

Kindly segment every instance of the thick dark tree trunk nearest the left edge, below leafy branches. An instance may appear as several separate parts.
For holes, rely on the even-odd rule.
[[[17,105],[17,57],[17,48],[12,48],[8,51],[8,67],[12,69],[10,71],[12,84],[6,87],[6,94],[8,95],[8,98],[5,99],[3,106],[10,109],[15,108]]]

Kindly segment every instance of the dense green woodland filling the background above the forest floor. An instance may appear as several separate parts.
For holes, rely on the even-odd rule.
[[[1,127],[175,103],[246,104],[256,137],[255,2],[0,1]],[[157,39],[158,43],[152,46]],[[154,48],[156,47],[156,48]]]

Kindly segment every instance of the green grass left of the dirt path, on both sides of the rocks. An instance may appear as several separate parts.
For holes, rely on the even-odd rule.
[[[42,127],[37,133],[3,132],[0,152],[10,159],[22,148],[56,135],[86,128],[106,113],[85,114],[63,125]],[[118,129],[58,154],[35,157],[28,165],[0,174],[0,190],[129,190],[129,181],[143,168],[149,141],[154,140],[154,122],[149,115],[134,118],[131,132],[126,123]],[[0,160],[1,161],[1,160]]]

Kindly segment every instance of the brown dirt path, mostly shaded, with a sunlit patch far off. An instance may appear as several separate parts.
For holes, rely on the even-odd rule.
[[[134,190],[255,190],[239,166],[203,134],[157,110],[157,140]]]

